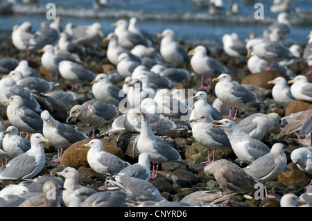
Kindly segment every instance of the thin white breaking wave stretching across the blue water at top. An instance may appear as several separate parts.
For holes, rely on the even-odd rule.
[[[42,5],[23,5],[17,4],[13,8],[16,15],[42,15],[45,16],[46,6]],[[226,22],[227,24],[249,24],[249,25],[268,25],[276,20],[275,17],[265,16],[265,19],[254,19],[254,15],[209,15],[208,12],[183,12],[183,13],[165,13],[165,12],[147,12],[144,10],[116,10],[112,8],[103,8],[102,10],[94,10],[93,8],[67,8],[58,6],[56,15],[60,17],[79,17],[85,19],[129,19],[137,17],[137,19],[146,21],[183,21],[183,22]],[[309,19],[295,17],[291,20],[291,24],[295,26],[304,26],[312,24]]]

